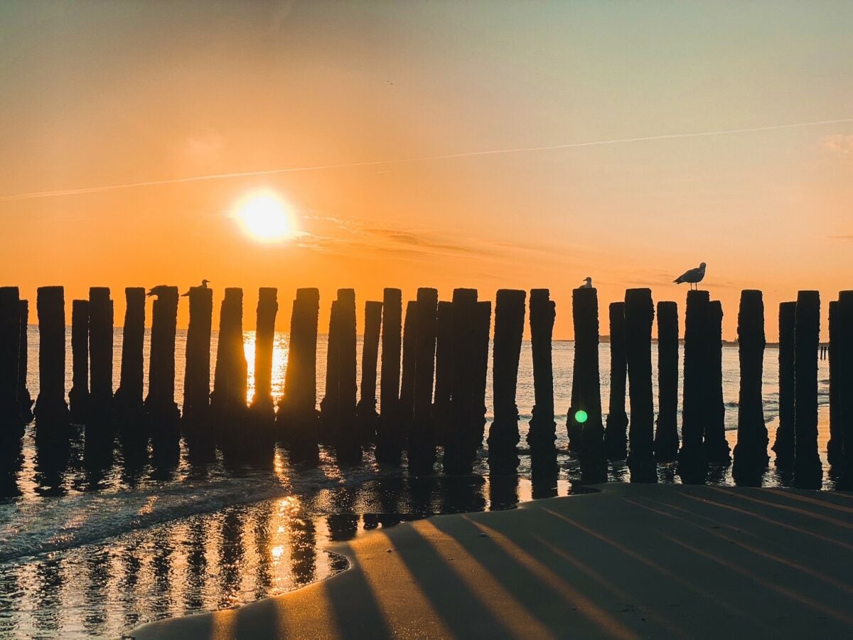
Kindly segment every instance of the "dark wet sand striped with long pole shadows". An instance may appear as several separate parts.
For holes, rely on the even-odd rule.
[[[331,579],[131,635],[850,637],[853,495],[597,488],[380,529]]]

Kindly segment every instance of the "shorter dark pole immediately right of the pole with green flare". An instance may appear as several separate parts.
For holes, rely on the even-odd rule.
[[[604,448],[608,460],[628,457],[628,414],[625,393],[628,360],[625,357],[625,303],[610,303],[610,406],[604,429]]]

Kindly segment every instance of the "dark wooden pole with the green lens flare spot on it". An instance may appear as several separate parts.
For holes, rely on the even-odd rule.
[[[572,322],[575,357],[572,375],[572,406],[566,416],[569,446],[580,455],[581,480],[604,482],[607,457],[604,425],[601,422],[601,381],[599,378],[598,291],[572,291]]]

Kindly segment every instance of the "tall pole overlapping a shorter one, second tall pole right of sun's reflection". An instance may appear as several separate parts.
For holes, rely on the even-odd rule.
[[[339,334],[339,413],[337,439],[334,440],[338,461],[357,463],[362,459],[356,422],[356,292],[338,289]]]

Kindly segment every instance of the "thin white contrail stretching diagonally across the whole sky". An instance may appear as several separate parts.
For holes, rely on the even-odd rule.
[[[32,200],[33,198],[53,198],[62,195],[82,195],[113,191],[115,189],[131,189],[133,187],[153,187],[161,184],[195,183],[206,180],[225,180],[230,177],[270,176],[276,173],[314,172],[325,169],[347,169],[358,166],[400,165],[411,162],[426,162],[428,160],[452,160],[454,158],[470,158],[477,155],[522,154],[533,151],[552,151],[565,148],[603,147],[609,144],[646,143],[653,140],[673,140],[682,137],[729,136],[736,133],[751,133],[753,131],[776,131],[779,129],[798,129],[806,126],[838,125],[853,122],[853,118],[838,118],[833,120],[813,120],[811,122],[794,122],[786,125],[755,126],[745,129],[722,129],[718,131],[693,131],[691,133],[665,133],[660,136],[623,137],[614,140],[596,140],[589,143],[551,144],[544,147],[492,148],[482,151],[465,151],[458,154],[424,155],[416,158],[396,158],[392,160],[366,160],[364,162],[346,162],[335,165],[289,166],[282,169],[266,169],[255,172],[213,173],[206,176],[173,177],[165,180],[148,180],[140,183],[105,184],[99,187],[82,189],[60,189],[56,191],[34,191],[27,194],[0,195],[0,201]]]

